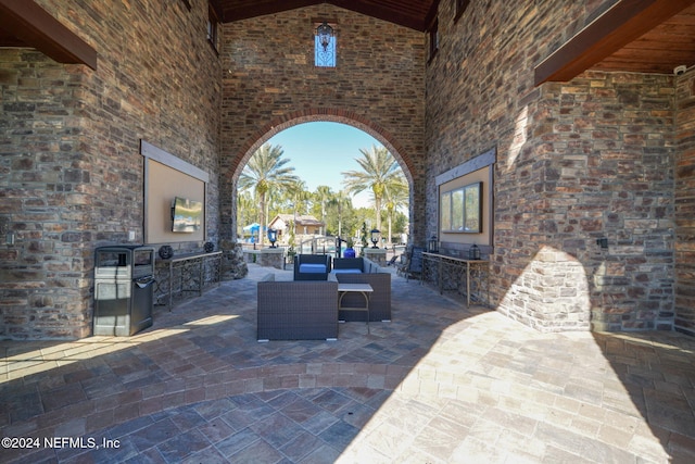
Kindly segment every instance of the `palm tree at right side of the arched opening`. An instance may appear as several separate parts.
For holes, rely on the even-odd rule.
[[[355,161],[362,171],[348,171],[341,173],[344,177],[343,185],[351,193],[370,189],[374,195],[374,208],[377,213],[377,228],[381,229],[381,203],[389,186],[400,183],[403,177],[401,166],[389,153],[386,147],[371,146],[371,151],[359,149],[363,158]]]

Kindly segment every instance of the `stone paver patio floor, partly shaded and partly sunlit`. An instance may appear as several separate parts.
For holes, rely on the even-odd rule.
[[[693,338],[540,334],[394,276],[369,335],[257,343],[268,272],[135,337],[0,342],[1,435],[41,440],[0,461],[695,461]]]

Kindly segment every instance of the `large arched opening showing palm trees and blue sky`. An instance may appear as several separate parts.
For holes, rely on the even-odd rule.
[[[237,236],[254,249],[267,244],[267,235],[302,252],[302,243],[338,237],[359,250],[376,228],[383,248],[395,250],[407,242],[409,190],[401,164],[364,130],[298,124],[270,137],[242,167]]]

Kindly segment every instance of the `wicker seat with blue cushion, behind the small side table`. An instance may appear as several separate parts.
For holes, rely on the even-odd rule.
[[[369,322],[391,321],[391,274],[381,266],[366,258],[334,258],[331,277],[342,284],[369,284],[374,289],[369,299]],[[342,304],[362,306],[364,299],[361,294],[346,294]],[[364,322],[366,317],[366,313],[356,311],[341,311],[339,314],[341,321]]]

